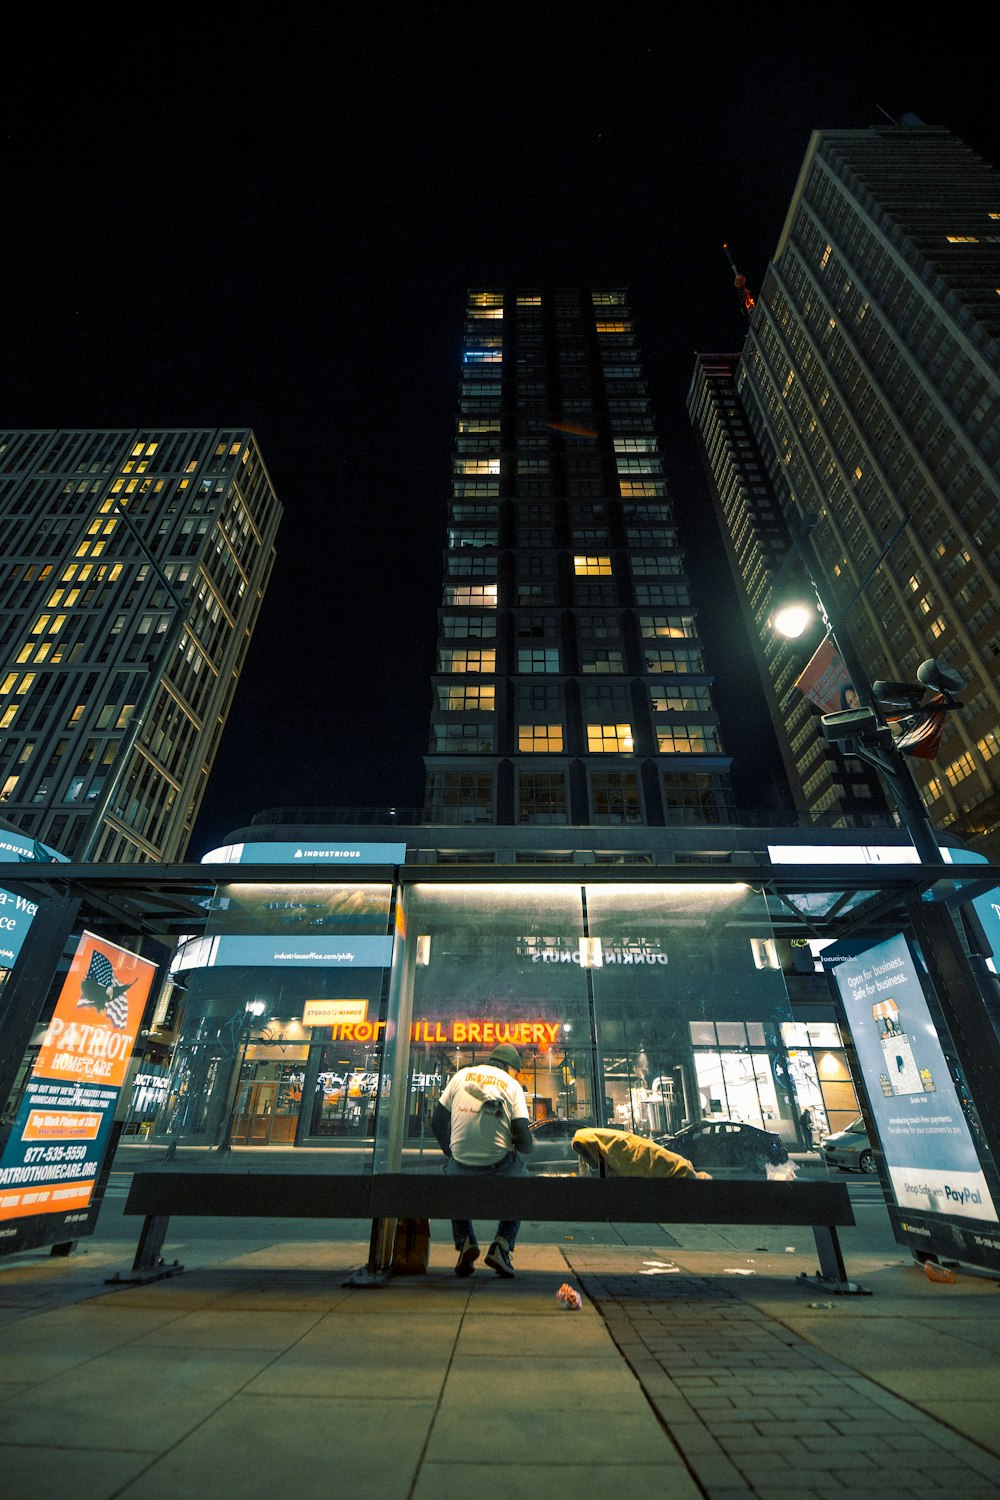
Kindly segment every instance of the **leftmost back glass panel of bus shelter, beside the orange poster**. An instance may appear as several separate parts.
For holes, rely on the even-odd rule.
[[[361,1170],[385,1029],[390,898],[388,884],[217,888],[205,936],[175,964],[186,994],[157,1136],[204,1148],[316,1137],[336,1148],[328,1170]],[[334,1072],[348,1078],[339,1113],[324,1077]]]

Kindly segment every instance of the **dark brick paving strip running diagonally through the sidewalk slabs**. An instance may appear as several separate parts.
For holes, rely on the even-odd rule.
[[[1000,1458],[750,1305],[747,1282],[570,1258],[709,1500],[1000,1494]],[[822,1296],[801,1306],[834,1310]]]

